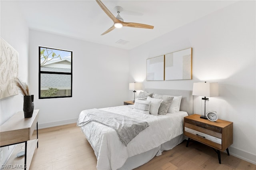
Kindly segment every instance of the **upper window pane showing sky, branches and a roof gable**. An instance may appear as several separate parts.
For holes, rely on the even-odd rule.
[[[39,47],[40,71],[71,73],[71,51]]]

